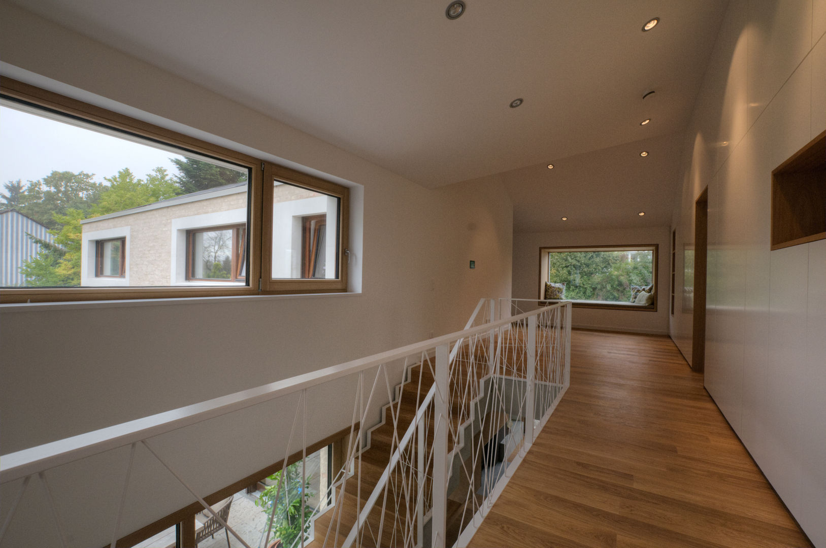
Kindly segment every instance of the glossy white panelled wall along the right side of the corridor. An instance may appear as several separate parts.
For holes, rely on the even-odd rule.
[[[826,2],[732,0],[673,224],[709,189],[705,386],[815,546],[826,546],[826,241],[769,250],[771,170],[826,128]],[[725,143],[725,144],[724,144]],[[677,253],[676,286],[682,286]],[[691,314],[672,338],[691,359]]]

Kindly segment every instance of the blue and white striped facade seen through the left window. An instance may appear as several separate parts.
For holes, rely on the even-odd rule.
[[[26,285],[26,276],[20,273],[20,267],[40,251],[40,246],[26,234],[47,242],[55,241],[49,229],[26,215],[15,210],[0,211],[0,286]]]

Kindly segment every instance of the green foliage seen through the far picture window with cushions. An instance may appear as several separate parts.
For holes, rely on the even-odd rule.
[[[565,282],[565,298],[628,302],[631,286],[652,281],[651,251],[548,254],[548,281]]]

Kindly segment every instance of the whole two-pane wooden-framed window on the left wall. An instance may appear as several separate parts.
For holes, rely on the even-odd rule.
[[[346,291],[345,187],[6,78],[0,118],[2,302]]]

